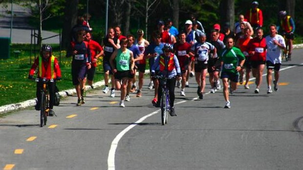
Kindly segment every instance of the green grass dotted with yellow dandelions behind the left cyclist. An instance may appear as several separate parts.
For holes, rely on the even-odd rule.
[[[59,60],[59,46],[52,46],[53,55]],[[19,58],[15,58],[14,50],[21,51]],[[65,53],[65,51],[62,51],[60,64],[62,81],[57,82],[59,90],[74,88],[71,81],[71,58],[66,58]],[[32,57],[31,64],[33,64],[33,60],[34,57]],[[101,81],[104,78],[101,61],[101,59],[98,60],[94,82]],[[11,57],[6,60],[0,59],[0,106],[36,98],[36,82],[27,79],[31,64],[30,45],[28,44],[13,44],[11,46]]]

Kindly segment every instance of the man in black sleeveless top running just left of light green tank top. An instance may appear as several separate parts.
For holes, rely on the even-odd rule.
[[[109,64],[109,58],[114,50],[120,48],[120,41],[114,36],[115,32],[113,28],[108,28],[108,35],[103,39],[104,44],[104,57],[103,57],[103,70],[104,70],[104,82],[105,87],[103,93],[108,93],[108,80],[109,75],[111,77],[111,91],[110,97],[115,97],[115,80]]]

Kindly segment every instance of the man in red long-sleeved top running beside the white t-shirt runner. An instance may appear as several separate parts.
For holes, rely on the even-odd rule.
[[[262,84],[262,74],[266,61],[266,40],[263,37],[263,29],[256,30],[257,37],[250,40],[247,45],[247,51],[250,57],[253,76],[256,77],[255,93],[259,93],[260,85]]]

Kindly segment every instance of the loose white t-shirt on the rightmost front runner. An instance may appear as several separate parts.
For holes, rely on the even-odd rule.
[[[266,61],[270,61],[273,64],[281,63],[282,62],[282,51],[281,48],[278,47],[278,45],[274,44],[273,41],[277,40],[278,43],[280,43],[282,46],[285,45],[284,38],[277,34],[275,37],[266,36],[266,45],[267,45],[267,53],[266,53]]]

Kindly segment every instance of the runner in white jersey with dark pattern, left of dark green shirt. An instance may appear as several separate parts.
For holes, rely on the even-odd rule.
[[[199,37],[199,42],[191,47],[189,55],[195,56],[195,80],[198,84],[197,94],[199,95],[199,99],[203,99],[209,55],[213,51],[214,56],[216,56],[216,47],[206,42],[206,35],[204,33],[196,36]]]

